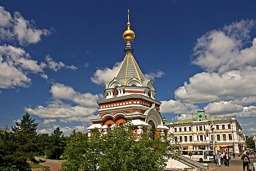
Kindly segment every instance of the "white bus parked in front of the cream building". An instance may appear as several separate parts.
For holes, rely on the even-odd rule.
[[[213,150],[179,150],[180,155],[203,162],[214,161]]]

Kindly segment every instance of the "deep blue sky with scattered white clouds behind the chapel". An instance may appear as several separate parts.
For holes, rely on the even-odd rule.
[[[87,131],[124,58],[127,9],[137,63],[167,121],[236,115],[256,124],[256,1],[1,1],[0,127],[27,112],[38,133]]]

